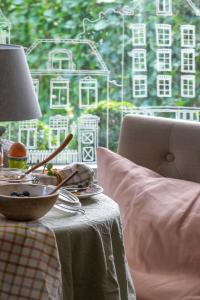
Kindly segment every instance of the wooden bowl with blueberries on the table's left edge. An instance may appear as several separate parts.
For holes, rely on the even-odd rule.
[[[33,221],[43,217],[55,204],[55,187],[12,183],[0,185],[0,213],[15,221]]]

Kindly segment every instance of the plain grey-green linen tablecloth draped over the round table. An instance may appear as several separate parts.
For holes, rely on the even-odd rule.
[[[64,300],[135,300],[118,205],[103,194],[82,205],[85,215],[53,208],[41,219],[56,235]]]

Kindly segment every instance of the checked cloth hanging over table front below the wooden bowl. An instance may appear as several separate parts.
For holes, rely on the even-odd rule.
[[[53,231],[39,222],[0,218],[0,299],[62,299],[61,266]]]

